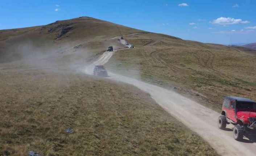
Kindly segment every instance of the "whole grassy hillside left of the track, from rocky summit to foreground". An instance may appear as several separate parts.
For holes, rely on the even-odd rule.
[[[138,32],[88,17],[1,30],[0,155],[218,155],[148,93],[77,72]]]

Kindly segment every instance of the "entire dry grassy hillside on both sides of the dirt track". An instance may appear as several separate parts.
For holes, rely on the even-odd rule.
[[[145,32],[90,17],[0,30],[0,154],[216,155],[148,94],[77,73],[115,36]],[[125,35],[107,69],[174,89],[220,110],[224,96],[256,100],[256,51],[164,34]],[[95,78],[95,79],[94,79]],[[66,128],[74,134],[66,135]]]

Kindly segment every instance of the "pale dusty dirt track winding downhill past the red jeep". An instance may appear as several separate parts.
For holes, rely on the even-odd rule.
[[[124,41],[125,42],[125,41]],[[118,51],[118,50],[117,50]],[[120,50],[119,50],[120,51]],[[87,66],[84,72],[92,75],[95,65],[103,65],[108,62],[114,52],[104,52],[98,60]],[[121,51],[120,51],[121,52]],[[174,91],[155,85],[147,84],[136,79],[108,73],[109,79],[132,84],[141,90],[148,92],[150,96],[168,113],[185,124],[191,130],[197,132],[211,146],[223,156],[248,156],[255,155],[256,143],[244,137],[244,142],[234,140],[232,127],[228,125],[226,131],[220,130],[217,125],[219,113],[208,109]]]

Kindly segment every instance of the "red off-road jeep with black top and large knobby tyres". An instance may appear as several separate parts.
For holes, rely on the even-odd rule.
[[[242,97],[225,97],[218,127],[225,129],[230,123],[235,125],[233,135],[236,140],[242,140],[245,133],[255,132],[256,102]]]

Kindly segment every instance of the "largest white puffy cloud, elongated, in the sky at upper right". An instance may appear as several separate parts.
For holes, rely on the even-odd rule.
[[[213,20],[210,22],[211,24],[219,24],[219,25],[230,25],[230,24],[246,24],[249,23],[249,21],[242,21],[241,19],[235,19],[231,17],[220,17],[216,20]]]

